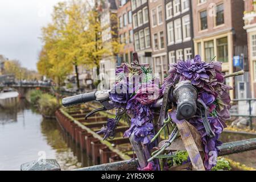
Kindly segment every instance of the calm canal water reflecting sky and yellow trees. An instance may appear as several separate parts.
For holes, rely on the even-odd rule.
[[[222,142],[254,138],[255,135],[224,133]],[[229,155],[228,158],[256,168],[256,151]],[[20,164],[41,158],[57,159],[61,169],[92,166],[55,119],[43,119],[22,100],[13,109],[0,108],[0,171],[20,170]]]

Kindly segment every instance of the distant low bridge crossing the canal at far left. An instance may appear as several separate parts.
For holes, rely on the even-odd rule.
[[[30,90],[42,90],[43,92],[49,92],[51,90],[51,86],[43,84],[11,84],[6,86],[15,89],[19,93],[20,98],[26,97],[26,94]],[[0,90],[3,88],[5,88],[5,86],[0,86]]]

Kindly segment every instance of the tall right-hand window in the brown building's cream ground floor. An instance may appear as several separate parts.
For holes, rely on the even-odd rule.
[[[220,61],[228,62],[228,38],[217,39],[217,58]]]

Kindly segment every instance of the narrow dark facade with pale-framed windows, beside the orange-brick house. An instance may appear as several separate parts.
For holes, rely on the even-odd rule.
[[[131,0],[131,10],[133,16],[134,49],[138,53],[141,63],[150,64],[152,67],[148,1]]]

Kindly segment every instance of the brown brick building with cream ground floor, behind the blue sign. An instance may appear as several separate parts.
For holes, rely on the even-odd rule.
[[[195,54],[201,55],[205,61],[221,61],[225,74],[237,71],[239,68],[234,67],[233,57],[243,56],[246,60],[247,54],[247,36],[242,28],[244,2],[195,0],[192,7]],[[236,88],[230,91],[231,98],[248,97],[248,77],[247,72],[245,76],[226,80],[227,84]]]

